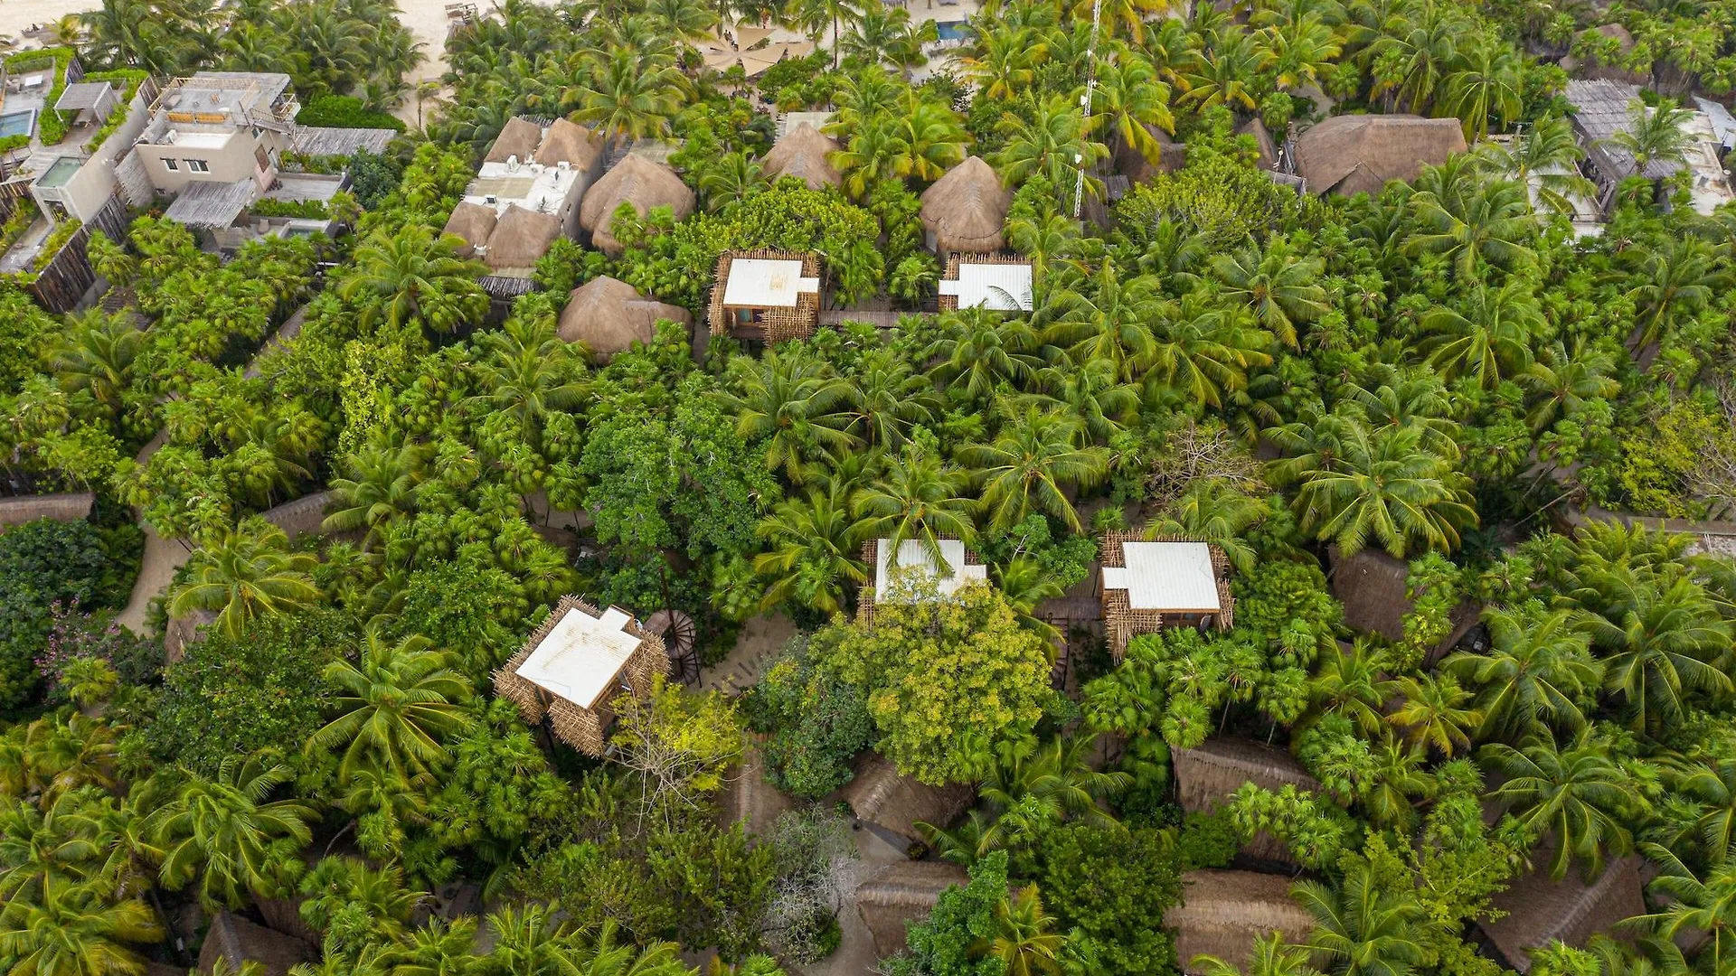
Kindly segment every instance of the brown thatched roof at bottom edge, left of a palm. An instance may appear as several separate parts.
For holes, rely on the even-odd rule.
[[[1290,879],[1276,874],[1196,870],[1182,875],[1182,903],[1163,913],[1175,931],[1175,960],[1189,976],[1196,955],[1215,955],[1246,969],[1253,940],[1269,933],[1299,943],[1314,931],[1314,917],[1290,898]]]

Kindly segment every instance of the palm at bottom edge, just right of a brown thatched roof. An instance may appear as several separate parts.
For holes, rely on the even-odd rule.
[[[1290,896],[1314,915],[1305,948],[1338,976],[1408,976],[1424,959],[1429,917],[1406,891],[1373,877],[1366,861],[1352,861],[1337,887],[1302,880]]]

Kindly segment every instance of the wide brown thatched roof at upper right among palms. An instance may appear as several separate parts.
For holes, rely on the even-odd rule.
[[[1457,118],[1335,115],[1297,139],[1297,174],[1318,195],[1380,193],[1389,181],[1410,182],[1425,163],[1463,151]]]

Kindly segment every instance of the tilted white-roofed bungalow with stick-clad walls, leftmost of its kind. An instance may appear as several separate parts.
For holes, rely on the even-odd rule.
[[[599,611],[566,596],[495,670],[495,691],[510,698],[526,722],[547,716],[561,742],[602,755],[602,733],[615,719],[609,700],[621,691],[642,695],[653,676],[667,672],[663,639],[630,613],[618,606]]]

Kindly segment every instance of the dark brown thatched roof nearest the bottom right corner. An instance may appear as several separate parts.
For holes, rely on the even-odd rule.
[[[1561,880],[1550,880],[1549,861],[1554,856],[1554,841],[1545,839],[1531,853],[1533,870],[1512,879],[1507,891],[1491,898],[1491,905],[1507,912],[1495,920],[1481,920],[1486,950],[1493,950],[1496,959],[1519,973],[1531,969],[1531,955],[1526,950],[1545,946],[1561,940],[1571,946],[1583,946],[1597,933],[1621,934],[1616,922],[1646,913],[1641,868],[1644,858],[1628,856],[1611,861],[1604,874],[1587,882],[1575,870]]]

